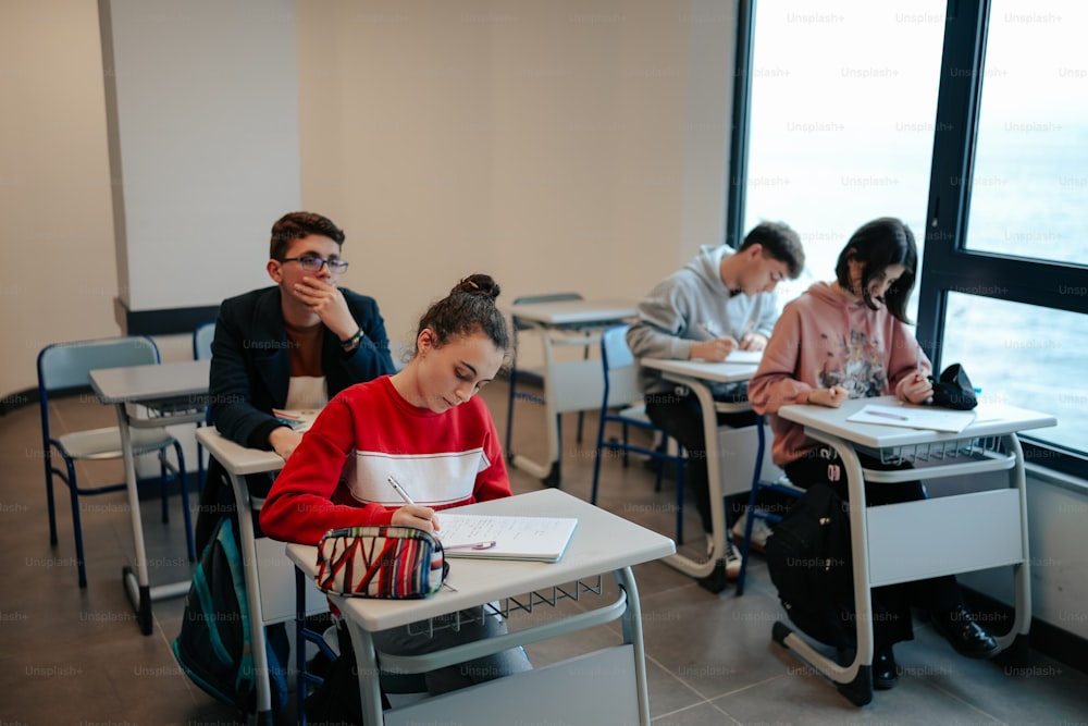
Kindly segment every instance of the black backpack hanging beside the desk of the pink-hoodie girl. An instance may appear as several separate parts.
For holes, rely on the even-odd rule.
[[[828,484],[813,484],[790,507],[767,538],[765,556],[794,625],[827,645],[856,642],[850,505]]]

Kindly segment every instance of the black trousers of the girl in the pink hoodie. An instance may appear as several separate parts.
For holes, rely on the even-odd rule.
[[[873,457],[860,455],[862,467],[883,471],[913,468],[907,463],[882,464]],[[844,501],[848,496],[846,475],[842,459],[834,450],[821,446],[808,456],[786,465],[786,473],[798,487],[808,489],[818,481],[827,482]],[[927,499],[920,481],[901,483],[865,482],[866,506],[899,504]],[[925,537],[925,522],[918,522],[918,537]],[[963,604],[960,586],[951,575],[931,577],[913,582],[900,582],[873,588],[873,636],[878,648],[914,638],[911,607],[929,611],[948,611]]]

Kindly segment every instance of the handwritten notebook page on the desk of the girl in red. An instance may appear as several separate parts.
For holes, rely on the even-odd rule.
[[[448,557],[556,562],[578,519],[438,513],[438,539]]]

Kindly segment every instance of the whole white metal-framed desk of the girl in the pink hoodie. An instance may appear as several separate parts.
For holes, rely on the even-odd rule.
[[[1056,423],[1046,414],[997,404],[979,406],[975,422],[960,433],[846,421],[868,404],[898,405],[894,396],[883,396],[855,398],[840,408],[794,405],[778,411],[778,416],[804,424],[807,435],[832,446],[842,457],[851,502],[854,607],[860,625],[857,651],[848,666],[818,652],[783,622],[774,625],[772,637],[834,681],[855,705],[873,699],[870,588],[1012,565],[1015,618],[1007,633],[994,637],[1006,649],[1027,636],[1031,622],[1027,492],[1024,454],[1016,432]],[[931,466],[902,471],[863,469],[858,452],[887,463],[906,460]],[[866,480],[902,482],[989,471],[1007,471],[1009,487],[865,506]],[[918,536],[920,522],[925,522],[925,537]],[[963,532],[969,532],[970,539],[966,540]]]

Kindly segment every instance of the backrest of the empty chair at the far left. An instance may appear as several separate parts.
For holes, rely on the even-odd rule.
[[[90,385],[90,371],[99,368],[157,362],[159,348],[145,335],[53,343],[38,354],[38,391],[45,395],[51,391]]]

